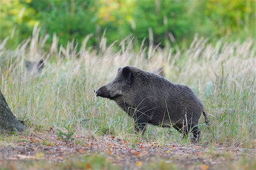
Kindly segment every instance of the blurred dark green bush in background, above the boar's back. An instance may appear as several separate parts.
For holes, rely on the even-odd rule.
[[[188,11],[188,1],[137,1],[133,13],[134,28],[131,32],[141,41],[148,37],[148,28],[152,28],[154,42],[164,44],[170,34],[177,40],[193,34],[195,22]]]

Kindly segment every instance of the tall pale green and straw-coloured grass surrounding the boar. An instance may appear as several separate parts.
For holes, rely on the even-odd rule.
[[[1,43],[0,43],[1,44]],[[0,45],[1,46],[1,45]],[[135,51],[133,43],[121,49],[84,47],[77,51],[70,43],[46,51],[36,36],[15,51],[0,49],[0,87],[16,117],[27,131],[46,132],[50,127],[72,127],[75,134],[113,134],[136,141],[133,120],[113,101],[96,98],[94,89],[115,77],[117,69],[134,65],[147,71],[164,68],[168,80],[190,86],[209,113],[211,130],[199,121],[201,144],[251,146],[256,119],[255,42],[207,44],[195,38],[188,49],[156,48],[144,45]],[[143,49],[146,50],[143,50]],[[98,55],[100,54],[100,55]],[[24,60],[46,59],[41,74],[27,73]],[[149,126],[144,139],[149,142],[190,144],[172,128]]]

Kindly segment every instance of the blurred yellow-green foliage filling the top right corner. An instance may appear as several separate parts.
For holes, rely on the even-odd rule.
[[[208,38],[255,37],[255,1],[198,1],[198,33]],[[232,38],[232,37],[231,37]]]

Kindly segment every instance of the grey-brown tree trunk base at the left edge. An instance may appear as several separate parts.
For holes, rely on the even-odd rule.
[[[11,112],[5,97],[0,90],[0,131],[23,131],[25,126],[16,119],[16,117]]]

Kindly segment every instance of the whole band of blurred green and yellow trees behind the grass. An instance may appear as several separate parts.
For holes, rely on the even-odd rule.
[[[135,43],[146,38],[161,46],[189,44],[195,35],[210,42],[244,40],[255,38],[255,5],[252,0],[0,0],[0,42],[8,38],[7,46],[14,48],[35,26],[49,35],[47,44],[56,34],[64,46],[92,34],[88,43],[97,47],[104,32],[108,44],[129,35]]]

